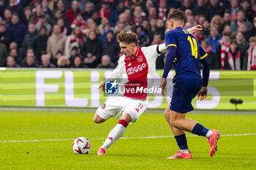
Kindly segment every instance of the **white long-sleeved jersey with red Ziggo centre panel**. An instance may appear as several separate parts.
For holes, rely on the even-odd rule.
[[[140,88],[137,92],[126,91],[124,96],[147,99],[148,94],[141,89],[151,87],[148,81],[154,78],[157,57],[165,52],[165,44],[138,47],[136,53],[129,57],[121,55],[118,66],[111,72],[108,79],[121,79],[121,84],[127,89]]]

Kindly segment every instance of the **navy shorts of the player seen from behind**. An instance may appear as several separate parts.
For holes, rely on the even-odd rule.
[[[173,85],[173,96],[170,101],[170,110],[180,113],[190,112],[192,107],[192,99],[202,88],[202,80],[198,79],[182,79],[176,80]]]

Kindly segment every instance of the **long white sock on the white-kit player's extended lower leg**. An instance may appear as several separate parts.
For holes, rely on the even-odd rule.
[[[117,139],[123,136],[125,131],[124,125],[117,124],[108,134],[108,138],[105,140],[104,144],[101,146],[104,150],[108,150],[108,147],[111,147],[113,143],[117,141]]]

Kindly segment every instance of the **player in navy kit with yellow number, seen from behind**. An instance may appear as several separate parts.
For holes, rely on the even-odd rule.
[[[167,47],[167,57],[165,69],[162,75],[162,91],[167,85],[166,77],[172,65],[176,71],[173,78],[173,96],[170,104],[165,110],[165,119],[175,135],[179,151],[167,159],[191,159],[192,155],[187,147],[185,131],[206,136],[210,144],[210,155],[215,155],[219,131],[209,130],[195,120],[187,119],[187,112],[192,111],[192,99],[197,96],[203,100],[207,96],[208,77],[210,63],[206,58],[207,53],[200,47],[195,36],[193,36],[184,26],[184,12],[174,9],[167,16],[168,31],[165,35],[165,45]],[[200,74],[200,63],[203,64],[203,80]]]

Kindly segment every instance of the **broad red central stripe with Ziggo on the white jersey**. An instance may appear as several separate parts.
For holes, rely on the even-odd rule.
[[[128,76],[128,82],[124,85],[126,89],[124,96],[146,99],[147,93],[144,93],[143,90],[141,91],[141,88],[148,88],[148,62],[141,48],[138,47],[135,55],[126,57],[124,62]],[[134,89],[134,92],[132,92],[132,89]]]

